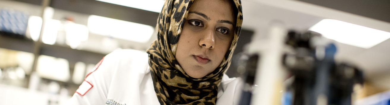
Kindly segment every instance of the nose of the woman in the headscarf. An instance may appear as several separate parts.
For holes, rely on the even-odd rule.
[[[214,31],[207,31],[206,33],[204,33],[203,38],[200,38],[199,45],[204,48],[214,49]]]

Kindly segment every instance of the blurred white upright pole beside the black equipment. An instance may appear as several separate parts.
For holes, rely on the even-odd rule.
[[[259,35],[259,34],[257,34]],[[257,64],[255,84],[251,105],[280,105],[282,98],[284,71],[282,70],[282,54],[287,29],[280,22],[269,26],[264,45],[259,45],[260,62]],[[258,44],[261,44],[258,43]]]

